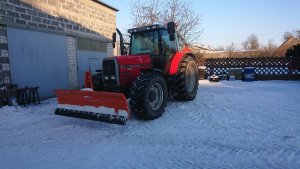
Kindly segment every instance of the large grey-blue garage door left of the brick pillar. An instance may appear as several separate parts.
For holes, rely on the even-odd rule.
[[[66,36],[16,28],[7,36],[13,83],[39,86],[42,98],[69,87]]]

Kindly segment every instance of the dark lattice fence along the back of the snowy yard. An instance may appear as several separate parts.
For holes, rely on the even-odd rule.
[[[206,74],[228,74],[231,68],[255,68],[256,80],[300,80],[300,58],[216,58],[199,59]]]

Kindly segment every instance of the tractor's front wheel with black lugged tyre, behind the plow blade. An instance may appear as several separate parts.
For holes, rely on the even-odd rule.
[[[130,89],[131,111],[139,119],[156,119],[165,111],[167,95],[167,85],[160,74],[142,73]]]

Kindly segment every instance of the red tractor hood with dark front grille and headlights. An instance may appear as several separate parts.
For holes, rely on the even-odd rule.
[[[150,55],[126,55],[103,59],[104,86],[130,87],[142,69],[151,69]]]

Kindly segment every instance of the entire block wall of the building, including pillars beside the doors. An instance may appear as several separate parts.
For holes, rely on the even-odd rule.
[[[9,51],[6,27],[63,34],[67,36],[70,88],[78,87],[76,38],[107,43],[113,55],[112,33],[116,30],[116,9],[96,0],[0,0],[0,82],[9,83]]]

